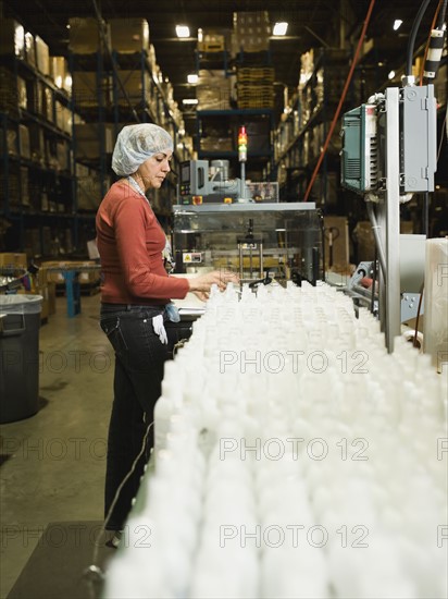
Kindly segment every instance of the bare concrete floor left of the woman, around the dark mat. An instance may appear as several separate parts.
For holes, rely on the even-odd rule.
[[[99,327],[100,295],[82,314],[40,328],[39,412],[0,426],[0,598],[50,522],[101,521],[113,354]]]

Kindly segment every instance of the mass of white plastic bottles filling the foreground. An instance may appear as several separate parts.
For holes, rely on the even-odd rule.
[[[445,597],[446,415],[426,356],[333,288],[214,292],[104,597]]]

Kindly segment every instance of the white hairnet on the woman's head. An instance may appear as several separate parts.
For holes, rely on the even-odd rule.
[[[135,173],[154,154],[173,150],[171,135],[159,125],[140,123],[122,129],[112,155],[112,169],[119,176]]]

